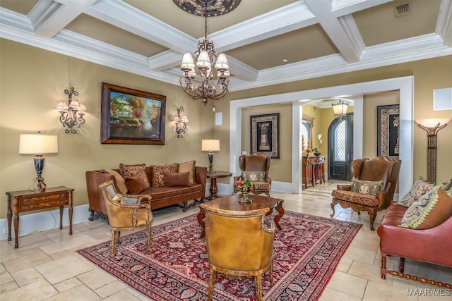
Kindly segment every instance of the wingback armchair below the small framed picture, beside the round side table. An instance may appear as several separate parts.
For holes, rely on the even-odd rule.
[[[268,175],[270,169],[270,156],[261,154],[242,154],[239,156],[240,176],[235,176],[234,181],[252,180],[256,184],[255,195],[265,193],[270,197],[271,178]],[[235,195],[238,191],[234,188],[232,192]]]

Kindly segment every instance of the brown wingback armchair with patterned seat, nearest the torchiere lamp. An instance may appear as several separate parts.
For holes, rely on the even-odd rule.
[[[358,214],[364,210],[369,214],[370,229],[374,231],[376,213],[388,208],[393,199],[401,163],[386,156],[352,161],[352,184],[338,184],[337,189],[331,192],[331,217],[335,214],[335,204],[343,208],[350,207]]]

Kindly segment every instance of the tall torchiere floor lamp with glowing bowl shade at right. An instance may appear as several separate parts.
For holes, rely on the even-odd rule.
[[[420,128],[427,132],[427,182],[436,183],[436,133],[445,128],[451,118],[418,119]]]

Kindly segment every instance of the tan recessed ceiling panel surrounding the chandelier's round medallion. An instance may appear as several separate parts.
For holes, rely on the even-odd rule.
[[[208,18],[208,34],[297,1],[298,0],[242,0],[234,11],[223,16]],[[126,0],[124,2],[185,32],[187,35],[191,35],[191,37],[197,39],[204,36],[204,18],[183,11],[171,0]]]

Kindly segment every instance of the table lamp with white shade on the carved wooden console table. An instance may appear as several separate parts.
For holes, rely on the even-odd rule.
[[[21,134],[19,138],[19,154],[35,154],[35,169],[37,174],[37,189],[44,192],[47,186],[42,178],[42,169],[44,168],[44,154],[52,154],[58,152],[58,136],[57,135],[41,135],[37,134]]]

